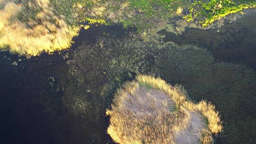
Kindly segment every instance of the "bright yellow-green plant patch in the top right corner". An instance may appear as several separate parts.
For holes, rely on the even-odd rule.
[[[208,0],[207,0],[208,1]],[[236,13],[242,9],[255,8],[255,0],[210,0],[204,2],[195,1],[189,7],[190,14],[184,16],[187,21],[198,18],[203,27],[229,14]]]

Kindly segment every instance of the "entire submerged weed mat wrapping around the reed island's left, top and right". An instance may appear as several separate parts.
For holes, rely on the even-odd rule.
[[[95,32],[98,30],[105,34]],[[256,102],[256,75],[248,67],[216,63],[210,51],[193,45],[154,44],[132,39],[116,26],[93,26],[81,34],[85,37],[84,44],[70,56],[69,80],[64,82],[64,105],[75,114],[99,124],[105,131],[101,121],[113,93],[120,84],[143,73],[161,77],[172,85],[182,84],[195,103],[201,99],[214,103],[224,126],[216,143],[255,144],[256,131],[251,126],[256,124],[256,115],[252,113],[255,109],[252,103]],[[93,129],[89,133],[85,135],[96,135]]]

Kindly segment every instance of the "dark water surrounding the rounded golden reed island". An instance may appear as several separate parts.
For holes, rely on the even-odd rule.
[[[256,70],[255,26],[255,15],[248,15],[219,33],[159,32],[165,42],[198,45],[211,53],[193,47],[154,49],[130,40],[132,30],[121,26],[82,30],[61,54],[27,60],[0,52],[0,143],[112,144],[105,109],[121,83],[145,73],[182,84],[195,101],[212,101],[224,125],[218,144],[255,144],[256,76],[250,70]],[[68,60],[62,57],[66,53]]]

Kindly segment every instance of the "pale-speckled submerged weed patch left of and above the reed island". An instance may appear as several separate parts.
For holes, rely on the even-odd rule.
[[[66,89],[68,94],[65,104],[77,115],[90,112],[91,108],[105,110],[106,101],[110,103],[112,92],[119,83],[127,81],[127,78],[132,77],[131,73],[138,73],[145,65],[145,43],[124,32],[119,36],[109,34],[94,38],[96,33],[91,32],[94,28],[97,27],[83,31],[83,36],[88,36],[88,41],[92,40],[93,43],[79,46],[73,53],[73,59],[68,60],[71,87]],[[99,102],[94,103],[92,99]],[[102,104],[101,107],[98,106],[99,103]]]

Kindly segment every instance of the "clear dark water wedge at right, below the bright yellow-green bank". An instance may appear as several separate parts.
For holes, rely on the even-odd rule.
[[[197,45],[209,49],[214,58],[228,63],[244,63],[256,71],[256,13],[245,15],[223,27],[202,30],[187,28],[180,36],[159,31],[164,42]],[[218,32],[219,30],[219,32]]]

